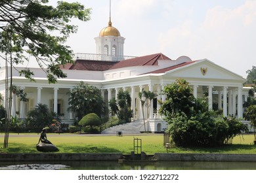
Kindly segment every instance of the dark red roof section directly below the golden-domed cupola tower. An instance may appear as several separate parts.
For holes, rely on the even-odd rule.
[[[83,71],[106,71],[116,63],[117,62],[114,62],[114,61],[77,59],[74,64],[68,63],[60,68],[70,69],[70,70],[83,70]]]

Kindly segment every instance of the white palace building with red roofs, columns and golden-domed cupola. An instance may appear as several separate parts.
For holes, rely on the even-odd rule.
[[[195,97],[209,93],[209,109],[222,109],[224,116],[243,117],[243,103],[247,101],[249,88],[243,87],[245,79],[242,76],[208,59],[191,60],[187,56],[170,59],[161,53],[136,58],[123,56],[125,38],[112,26],[111,20],[108,26],[100,31],[95,42],[96,54],[75,54],[74,64],[67,64],[62,68],[67,78],[58,79],[56,84],[49,84],[45,72],[39,68],[30,68],[35,73],[36,82],[30,82],[20,76],[18,71],[13,71],[13,84],[24,89],[28,102],[20,101],[14,96],[12,116],[19,114],[19,118],[25,118],[29,110],[38,103],[43,103],[48,105],[51,111],[64,115],[62,122],[72,124],[74,115],[67,111],[67,93],[83,81],[100,88],[106,101],[116,97],[118,90],[128,90],[134,112],[134,120],[131,123],[133,125],[143,123],[138,93],[142,88],[158,93],[158,97],[152,101],[147,128],[152,132],[160,132],[166,127],[166,122],[158,114],[160,106],[157,101],[165,101],[161,90],[177,78],[184,78],[194,88]],[[3,96],[5,73],[5,67],[1,67],[0,92]],[[137,125],[137,130],[144,131],[144,127]]]

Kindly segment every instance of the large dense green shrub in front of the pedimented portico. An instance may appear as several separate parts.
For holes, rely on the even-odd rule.
[[[219,146],[247,130],[236,117],[209,111],[205,99],[195,99],[185,80],[165,86],[167,99],[160,113],[165,115],[167,131],[177,146]]]

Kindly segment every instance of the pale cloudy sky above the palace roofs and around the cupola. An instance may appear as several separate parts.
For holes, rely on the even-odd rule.
[[[94,38],[108,26],[110,1],[76,1],[92,8],[91,20],[72,21],[78,31],[66,44],[74,53],[95,54]],[[111,5],[125,56],[206,58],[244,78],[256,66],[256,0],[112,0]]]

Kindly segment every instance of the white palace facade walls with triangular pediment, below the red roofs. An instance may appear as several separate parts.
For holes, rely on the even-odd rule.
[[[68,92],[71,88],[74,88],[79,84],[79,82],[83,81],[102,90],[102,95],[104,95],[106,100],[108,100],[108,98],[116,97],[117,92],[120,89],[128,90],[131,93],[133,87],[134,94],[132,100],[134,101],[133,105],[136,113],[135,118],[142,119],[138,96],[141,88],[144,88],[144,90],[152,90],[155,93],[160,93],[159,91],[163,89],[166,84],[175,82],[177,78],[184,78],[194,89],[196,88],[194,90],[194,95],[196,95],[196,97],[202,97],[204,92],[211,91],[211,104],[219,103],[219,108],[224,108],[224,110],[229,108],[228,111],[223,111],[223,114],[225,115],[232,112],[232,114],[242,117],[242,103],[246,100],[247,92],[249,91],[249,88],[240,89],[245,81],[244,78],[215,65],[207,59],[196,61],[195,63],[173,69],[166,73],[150,74],[150,71],[155,71],[160,69],[160,67],[166,67],[166,62],[167,61],[160,61],[159,63],[161,66],[126,67],[123,69],[114,69],[104,72],[64,69],[63,71],[64,73],[67,73],[68,78],[58,79],[56,84],[49,84],[48,80],[45,78],[44,71],[41,71],[41,69],[31,69],[35,73],[36,82],[29,82],[23,76],[19,76],[18,72],[14,71],[14,85],[24,88],[25,92],[28,93],[27,97],[33,100],[30,102],[30,105],[33,106],[28,108],[28,103],[24,103],[24,106],[21,107],[22,104],[18,102],[18,99],[16,99],[14,111],[18,111],[23,108],[23,115],[25,116],[29,109],[32,109],[37,105],[37,101],[41,101],[41,103],[48,105],[49,108],[52,108],[53,110],[51,105],[53,105],[54,88],[57,88],[55,97],[58,101],[61,101],[64,120],[72,120],[72,114],[67,111],[69,98]],[[170,61],[169,64],[173,64],[173,61]],[[207,68],[205,75],[202,74],[201,68]],[[0,92],[5,94],[5,76],[1,76],[1,73],[5,73],[5,68],[0,69]],[[149,74],[142,75],[142,73]],[[109,78],[107,75],[109,75]],[[209,86],[212,87],[211,90],[209,90]],[[108,93],[110,91],[111,93]],[[230,93],[231,91],[232,95]],[[232,96],[232,100],[223,100],[224,103],[222,103],[222,101],[219,100],[219,93],[221,96]],[[158,99],[162,99],[164,101],[165,96],[158,96]],[[231,102],[232,105],[230,104]],[[230,107],[232,107],[232,110],[230,110]],[[152,114],[153,110],[151,109],[150,111],[150,125],[148,125],[148,128],[150,131],[158,131],[158,128],[163,127],[164,125],[158,125],[160,123],[160,116],[158,116],[158,112],[156,111],[156,114]]]

